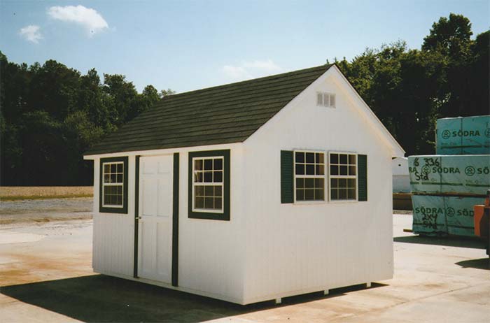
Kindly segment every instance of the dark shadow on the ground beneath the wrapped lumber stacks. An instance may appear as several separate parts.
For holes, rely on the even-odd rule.
[[[397,236],[393,238],[398,243],[419,243],[421,245],[444,245],[447,247],[465,247],[472,249],[485,249],[483,241],[477,238],[464,238],[457,236],[431,237],[431,236]]]

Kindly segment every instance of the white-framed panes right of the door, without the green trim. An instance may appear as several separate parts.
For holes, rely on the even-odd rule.
[[[223,157],[194,158],[194,208],[223,211]]]

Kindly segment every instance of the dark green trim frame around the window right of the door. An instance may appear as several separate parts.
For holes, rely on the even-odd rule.
[[[223,157],[223,210],[221,212],[193,210],[193,159],[200,157]],[[190,219],[230,221],[230,150],[189,152],[188,159],[188,217]]]

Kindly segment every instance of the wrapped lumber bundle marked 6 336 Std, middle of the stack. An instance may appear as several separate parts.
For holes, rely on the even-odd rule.
[[[409,156],[414,194],[484,195],[490,189],[490,155]]]

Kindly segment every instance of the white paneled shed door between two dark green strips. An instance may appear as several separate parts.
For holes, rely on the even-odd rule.
[[[141,278],[172,282],[172,155],[141,157],[139,257]]]

